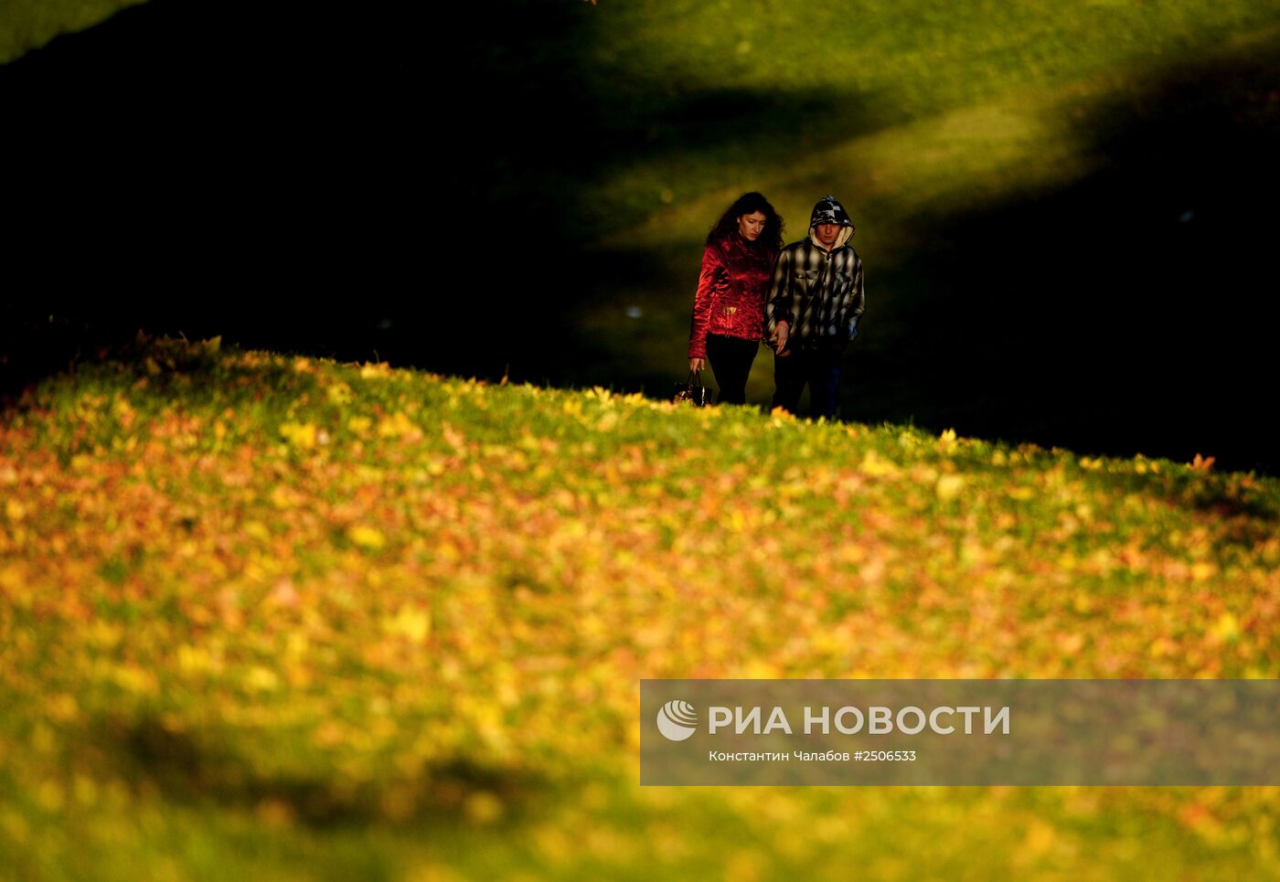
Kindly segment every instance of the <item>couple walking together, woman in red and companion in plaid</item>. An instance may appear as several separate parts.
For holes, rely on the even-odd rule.
[[[852,234],[831,196],[813,207],[809,236],[785,248],[782,218],[760,193],[724,211],[707,236],[689,334],[689,369],[710,362],[721,402],[746,402],[763,342],[774,353],[772,406],[795,413],[808,383],[813,416],[836,416],[845,348],[865,309]]]

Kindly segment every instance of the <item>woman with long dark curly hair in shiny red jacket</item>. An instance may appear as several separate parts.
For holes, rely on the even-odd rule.
[[[689,370],[710,361],[724,403],[746,402],[746,378],[764,337],[764,297],[782,250],[782,218],[744,193],[707,234],[689,333]]]

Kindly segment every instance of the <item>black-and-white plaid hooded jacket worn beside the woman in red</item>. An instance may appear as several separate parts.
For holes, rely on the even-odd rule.
[[[818,224],[844,227],[827,251],[818,245]],[[854,224],[844,206],[831,196],[813,207],[809,238],[788,245],[778,255],[764,305],[764,338],[778,326],[788,326],[788,348],[815,349],[824,344],[844,348],[858,335],[858,321],[867,309],[863,293],[863,261],[846,245]]]

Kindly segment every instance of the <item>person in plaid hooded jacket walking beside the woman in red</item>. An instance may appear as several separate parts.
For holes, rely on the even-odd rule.
[[[836,416],[841,361],[865,310],[863,261],[847,245],[849,214],[831,196],[813,207],[809,238],[778,255],[764,305],[773,346],[773,407],[795,413],[809,384],[814,417]]]

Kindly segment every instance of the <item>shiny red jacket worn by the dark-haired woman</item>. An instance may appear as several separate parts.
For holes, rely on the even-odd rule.
[[[741,339],[764,338],[764,296],[777,255],[737,230],[703,252],[703,271],[694,296],[689,357],[707,357],[707,334]]]

